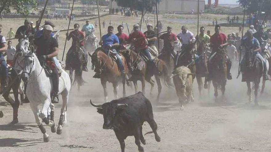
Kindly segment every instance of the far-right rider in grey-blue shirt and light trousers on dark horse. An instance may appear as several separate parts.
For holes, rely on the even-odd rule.
[[[266,65],[265,59],[259,53],[261,51],[260,43],[259,43],[259,41],[255,37],[253,37],[253,31],[251,29],[249,29],[247,31],[247,37],[245,37],[243,39],[240,49],[243,49],[242,46],[245,46],[245,49],[252,48],[253,52],[255,54],[255,57],[257,57],[258,59],[262,60],[262,62],[263,62],[263,68],[264,68],[263,79],[264,80],[269,80],[268,79],[268,75],[267,75],[268,69],[267,69],[267,65]],[[245,58],[243,58],[243,60],[241,61],[241,65],[245,64],[244,60],[245,60]]]

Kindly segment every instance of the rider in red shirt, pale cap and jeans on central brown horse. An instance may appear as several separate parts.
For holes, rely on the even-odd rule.
[[[135,24],[133,26],[134,32],[129,35],[128,42],[130,42],[133,45],[134,50],[136,53],[143,53],[146,57],[148,57],[148,63],[151,65],[154,65],[154,62],[152,60],[152,57],[148,51],[148,41],[145,37],[145,35],[139,31],[139,24]]]

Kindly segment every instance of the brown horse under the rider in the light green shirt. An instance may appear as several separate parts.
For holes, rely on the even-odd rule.
[[[207,71],[205,67],[207,66],[207,60],[208,60],[208,56],[207,56],[208,49],[209,47],[207,45],[199,45],[199,49],[197,50],[199,59],[196,61],[196,80],[198,83],[200,97],[201,97],[201,91],[203,88],[203,82],[202,82],[203,77],[205,78],[204,87],[206,87],[205,85],[207,85],[208,94],[210,92],[211,81],[207,81],[207,74],[206,74]]]

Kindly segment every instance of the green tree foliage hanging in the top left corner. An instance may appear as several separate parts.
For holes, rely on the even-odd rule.
[[[36,0],[0,0],[0,14],[4,11],[10,13],[10,8],[14,8],[18,14],[28,15],[27,5],[31,5],[34,9],[37,7]]]

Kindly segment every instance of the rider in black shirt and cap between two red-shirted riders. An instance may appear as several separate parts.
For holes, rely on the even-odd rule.
[[[154,45],[157,36],[155,35],[154,30],[152,30],[152,24],[148,24],[147,29],[148,30],[144,32],[144,35],[146,36],[148,41],[148,49],[151,51],[153,56],[158,57],[158,51]]]

